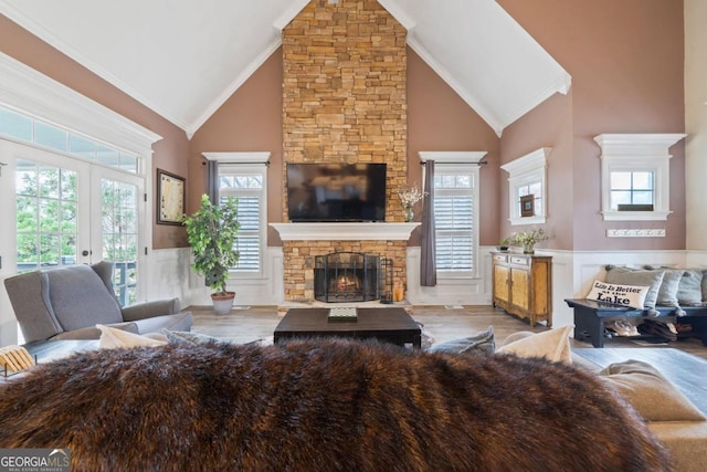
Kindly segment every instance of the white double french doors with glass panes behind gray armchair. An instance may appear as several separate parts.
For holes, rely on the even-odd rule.
[[[2,275],[107,260],[120,303],[137,302],[144,179],[7,140],[0,161]]]

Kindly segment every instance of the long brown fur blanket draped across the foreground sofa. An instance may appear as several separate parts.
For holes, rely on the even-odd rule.
[[[96,350],[0,386],[0,447],[74,471],[658,471],[588,373],[344,340]]]

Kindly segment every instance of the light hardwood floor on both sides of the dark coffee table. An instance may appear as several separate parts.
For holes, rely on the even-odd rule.
[[[235,343],[249,343],[262,339],[266,344],[273,342],[273,332],[286,308],[277,306],[236,306],[226,315],[217,315],[211,307],[191,306],[194,324],[192,331],[210,336],[229,339]],[[527,321],[494,310],[490,305],[479,306],[414,306],[412,316],[424,325],[424,333],[434,343],[466,337],[494,327],[497,342],[519,331],[542,332],[547,327],[537,324],[530,327]],[[591,347],[591,344],[572,339],[573,347]],[[641,347],[631,339],[613,338],[606,340],[605,348]],[[650,345],[645,348],[673,347],[707,359],[707,347],[698,339],[685,339],[665,345]]]

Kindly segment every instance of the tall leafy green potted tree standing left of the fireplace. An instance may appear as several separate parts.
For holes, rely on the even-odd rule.
[[[235,292],[226,291],[225,284],[229,269],[240,258],[234,249],[241,228],[238,214],[238,199],[229,197],[221,204],[213,204],[204,193],[199,210],[182,219],[187,228],[187,241],[194,254],[192,268],[204,276],[207,285],[214,291],[211,300],[219,314],[229,313],[235,297]]]

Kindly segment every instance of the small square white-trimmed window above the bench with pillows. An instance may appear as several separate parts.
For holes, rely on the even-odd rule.
[[[669,210],[668,148],[685,137],[600,135],[602,216],[610,221],[666,220]]]

